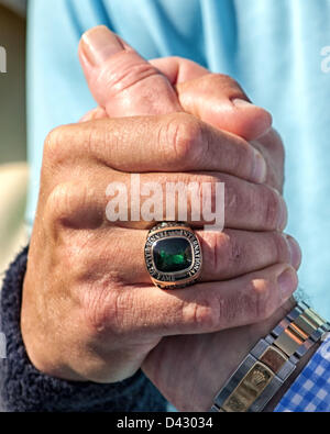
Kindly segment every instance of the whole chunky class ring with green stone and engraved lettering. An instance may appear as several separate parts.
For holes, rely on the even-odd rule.
[[[147,234],[144,258],[153,283],[162,289],[194,285],[202,267],[198,237],[182,222],[163,222]]]

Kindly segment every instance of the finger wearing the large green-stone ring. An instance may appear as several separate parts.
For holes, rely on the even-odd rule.
[[[196,234],[204,258],[200,277],[204,282],[232,279],[275,264],[290,264],[295,269],[300,265],[301,253],[297,242],[279,232],[226,230],[196,231]],[[85,244],[84,251],[79,252],[79,263],[90,270],[91,278],[102,274],[116,275],[123,285],[147,285],[151,277],[146,271],[143,248],[146,237],[147,231],[112,227],[98,240],[97,255],[95,241]]]

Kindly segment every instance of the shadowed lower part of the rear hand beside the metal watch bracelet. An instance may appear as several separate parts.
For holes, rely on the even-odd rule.
[[[147,356],[143,370],[177,410],[209,411],[216,394],[257,341],[294,305],[295,302],[288,300],[271,318],[256,324],[218,333],[166,337]]]

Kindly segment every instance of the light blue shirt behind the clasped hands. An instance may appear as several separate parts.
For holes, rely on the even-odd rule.
[[[47,132],[96,105],[77,46],[106,24],[146,58],[178,55],[233,76],[272,112],[300,286],[330,316],[330,0],[30,0],[29,20],[29,222]]]

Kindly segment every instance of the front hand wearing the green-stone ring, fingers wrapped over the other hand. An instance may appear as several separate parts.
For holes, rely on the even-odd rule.
[[[89,59],[105,55],[96,45],[89,44],[88,55],[95,56]],[[109,53],[108,67],[113,56]],[[117,52],[114,64],[122,62],[119,58]],[[263,175],[255,171],[255,162],[263,162],[261,155],[232,132],[219,131],[191,114],[170,114],[183,110],[176,93],[164,75],[147,68],[130,69],[125,86],[125,75],[116,79],[112,87],[119,89],[118,98],[112,98],[112,87],[105,88],[109,104],[101,111],[113,119],[59,127],[45,142],[22,333],[31,360],[44,372],[113,382],[130,377],[146,360],[146,372],[172,400],[163,380],[178,367],[179,358],[172,358],[174,365],[166,364],[167,374],[157,378],[152,358],[158,359],[157,348],[164,350],[163,337],[212,333],[270,318],[296,289],[300,257],[296,243],[279,232],[286,222],[283,199],[261,183],[265,176],[256,179]],[[103,69],[100,88],[107,77]],[[120,118],[139,114],[140,105],[144,115]],[[157,115],[151,116],[153,109]],[[232,115],[240,110],[234,107]],[[262,113],[254,107],[248,110]],[[246,121],[246,131],[256,131],[257,138],[261,127],[253,127],[253,122]],[[268,131],[270,125],[264,122],[264,127]],[[161,185],[178,179],[226,182],[230,229],[197,232],[206,263],[200,283],[176,291],[151,286],[143,259],[146,222],[128,222],[122,227],[107,221],[106,188],[117,180],[129,185],[130,173],[140,173],[142,182]],[[175,341],[165,348],[169,356],[177,354]],[[200,348],[182,352],[186,369],[195,366]],[[177,375],[179,387],[188,391],[190,379],[182,368]],[[174,394],[173,402],[180,407]]]

